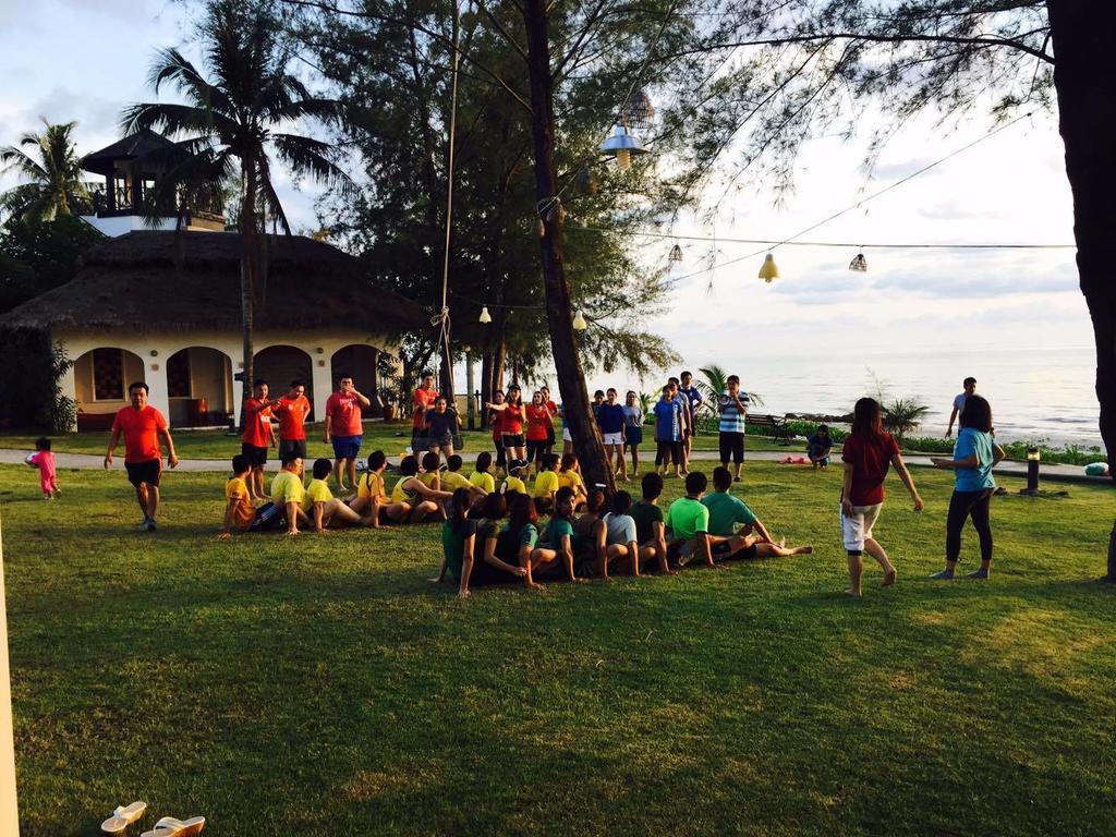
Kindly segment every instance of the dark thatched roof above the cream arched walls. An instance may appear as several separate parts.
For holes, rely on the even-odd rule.
[[[0,328],[239,330],[241,238],[231,232],[129,232],[89,250],[77,276],[0,316]],[[372,287],[357,260],[304,235],[268,235],[258,329],[401,333],[429,326],[414,302]]]

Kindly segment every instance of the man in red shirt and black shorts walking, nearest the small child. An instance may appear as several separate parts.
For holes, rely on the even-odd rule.
[[[108,440],[105,468],[113,464],[113,451],[121,441],[121,434],[124,434],[124,469],[128,472],[128,482],[135,487],[136,502],[143,512],[140,528],[153,532],[158,513],[158,478],[163,470],[160,439],[166,443],[166,461],[171,468],[179,464],[179,456],[174,452],[166,419],[147,404],[147,385],[142,381],[132,384],[128,398],[132,406],[121,410],[113,420],[113,437]]]

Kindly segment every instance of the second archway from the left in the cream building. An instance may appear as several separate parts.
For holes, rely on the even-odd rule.
[[[189,346],[166,358],[172,427],[223,427],[233,412],[232,362],[223,352]]]

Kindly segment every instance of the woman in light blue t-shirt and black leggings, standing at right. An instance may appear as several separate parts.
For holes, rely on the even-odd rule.
[[[988,580],[992,573],[992,525],[989,507],[995,491],[992,466],[1003,459],[1003,449],[992,439],[992,407],[980,395],[965,398],[961,430],[953,445],[953,459],[932,456],[937,468],[952,468],[953,496],[945,518],[945,569],[931,578],[951,579],[961,557],[961,530],[972,518],[980,538],[980,569],[969,578]]]

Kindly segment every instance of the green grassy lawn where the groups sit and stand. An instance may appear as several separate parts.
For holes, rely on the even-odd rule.
[[[170,473],[143,535],[119,474],[47,503],[0,466],[22,835],[133,799],[217,835],[1112,834],[1110,489],[997,498],[992,581],[942,584],[951,483],[915,479],[859,602],[839,472],[762,463],[812,556],[459,602],[434,526],[221,543],[220,481]]]

